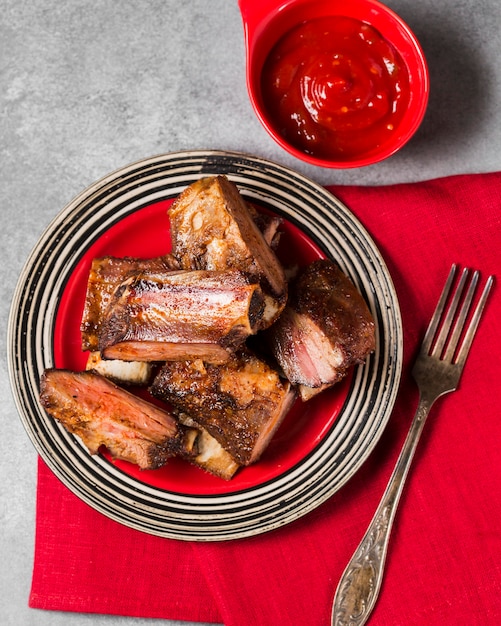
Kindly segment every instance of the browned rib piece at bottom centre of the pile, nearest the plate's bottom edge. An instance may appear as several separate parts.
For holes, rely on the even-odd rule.
[[[166,363],[150,391],[189,415],[240,465],[261,456],[296,395],[288,381],[247,349],[223,365]]]

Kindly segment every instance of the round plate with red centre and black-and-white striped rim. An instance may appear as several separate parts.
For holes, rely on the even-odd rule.
[[[285,264],[330,257],[366,299],[376,350],[343,383],[298,400],[262,459],[222,481],[180,460],[140,471],[91,456],[38,401],[47,367],[83,369],[79,324],[96,256],[150,257],[170,249],[168,208],[203,176],[226,174],[260,210],[284,218]],[[78,497],[111,519],[157,536],[223,541],[307,514],[340,489],[371,453],[395,401],[402,324],[388,269],[363,225],[310,179],[240,153],[190,151],[126,166],[91,185],[48,226],[19,278],[9,326],[15,402],[38,453]]]

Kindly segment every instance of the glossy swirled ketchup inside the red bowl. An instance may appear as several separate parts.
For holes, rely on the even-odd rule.
[[[328,159],[385,143],[409,103],[398,52],[369,24],[342,16],[286,33],[264,64],[261,87],[278,132],[303,152]]]

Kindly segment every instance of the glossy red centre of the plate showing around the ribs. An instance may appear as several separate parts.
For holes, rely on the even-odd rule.
[[[80,320],[87,277],[96,257],[112,255],[149,258],[170,251],[168,208],[165,200],[137,211],[112,226],[80,259],[60,300],[54,333],[54,362],[58,368],[83,370]],[[321,250],[292,223],[284,221],[278,256],[285,266],[306,265],[323,258]],[[265,483],[294,467],[311,453],[331,428],[350,386],[350,377],[307,403],[297,400],[267,450],[256,464],[223,481],[179,459],[158,470],[140,470],[131,463],[112,461],[121,471],[153,487],[183,494],[224,494]]]

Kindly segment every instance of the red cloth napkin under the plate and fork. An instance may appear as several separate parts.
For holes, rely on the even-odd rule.
[[[410,364],[453,262],[501,276],[501,173],[332,187],[378,244],[404,325],[397,403],[328,502],[245,540],[185,543],[123,527],[40,462],[30,606],[224,623],[328,626],[334,591],[417,404]],[[402,496],[374,626],[501,623],[501,324],[495,286],[460,388],[437,402]]]

